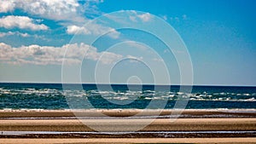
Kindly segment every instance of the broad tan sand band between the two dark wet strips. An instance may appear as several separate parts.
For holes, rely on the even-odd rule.
[[[0,120],[0,131],[130,131],[148,123],[148,119],[26,119]],[[167,130],[256,130],[256,118],[157,118],[142,131]]]

